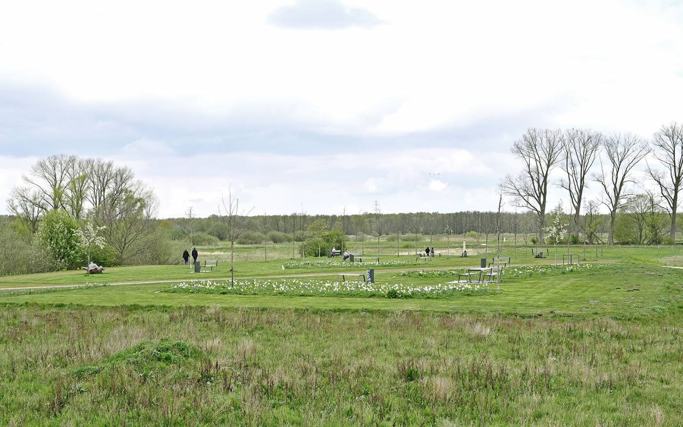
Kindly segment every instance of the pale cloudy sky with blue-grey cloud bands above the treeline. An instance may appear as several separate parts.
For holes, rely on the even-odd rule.
[[[650,137],[682,99],[678,1],[7,1],[0,199],[68,153],[161,217],[230,184],[257,213],[494,209],[526,128]]]

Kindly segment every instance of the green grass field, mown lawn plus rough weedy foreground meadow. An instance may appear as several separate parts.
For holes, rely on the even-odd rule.
[[[554,260],[517,251],[516,265]],[[438,288],[453,279],[444,268],[479,257],[378,268],[381,292],[3,290],[0,425],[682,425],[683,270],[661,265],[679,252],[613,247],[576,271],[513,266],[499,289],[398,298],[387,287]],[[339,270],[285,262],[240,261],[236,275],[315,273],[296,280],[318,286]],[[2,277],[0,288],[228,273],[120,267]]]

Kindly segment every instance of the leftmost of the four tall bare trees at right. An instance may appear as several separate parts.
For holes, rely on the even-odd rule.
[[[524,169],[516,177],[508,174],[501,182],[501,190],[512,197],[516,206],[535,213],[540,240],[546,217],[548,177],[561,159],[561,148],[559,129],[530,128],[512,145],[512,154],[524,162]]]

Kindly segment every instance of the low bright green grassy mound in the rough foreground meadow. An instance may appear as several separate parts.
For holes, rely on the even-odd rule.
[[[104,359],[97,365],[85,365],[74,371],[78,379],[99,374],[113,366],[128,366],[141,374],[165,370],[170,365],[178,365],[189,359],[198,359],[204,352],[197,346],[182,341],[149,340],[137,346],[122,350]]]

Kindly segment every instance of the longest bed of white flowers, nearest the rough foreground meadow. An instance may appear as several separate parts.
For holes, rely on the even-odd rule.
[[[452,294],[480,294],[486,284],[387,284],[356,281],[324,281],[300,279],[236,280],[233,285],[224,280],[186,281],[162,292],[190,294],[246,294],[292,296],[348,296],[388,298],[438,298]]]

